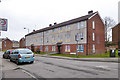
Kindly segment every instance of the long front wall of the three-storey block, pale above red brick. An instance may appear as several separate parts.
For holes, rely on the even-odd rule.
[[[37,48],[40,49],[40,46],[42,46],[41,52],[44,52],[44,51],[46,52],[45,48],[46,48],[46,46],[48,46],[49,52],[53,52],[52,46],[53,45],[57,46],[58,42],[62,42],[62,45],[64,45],[64,46],[67,44],[72,45],[71,47],[74,48],[74,45],[77,44],[77,42],[75,41],[75,35],[77,33],[80,34],[81,32],[83,33],[84,38],[83,38],[83,40],[80,40],[78,43],[86,44],[86,42],[87,42],[86,21],[82,21],[83,27],[81,28],[81,26],[80,26],[80,29],[78,29],[78,23],[81,23],[81,22],[67,25],[70,27],[70,29],[67,29],[66,26],[62,26],[61,30],[59,28],[55,28],[54,32],[53,32],[53,30],[48,30],[48,31],[30,35],[30,36],[26,36],[27,48],[30,48],[30,46],[32,44],[34,44],[35,51],[37,50]],[[43,36],[43,34],[44,34],[44,36]],[[66,35],[68,35],[68,34],[70,35],[70,37],[66,38]],[[44,37],[44,43],[43,43],[43,37]],[[54,37],[55,37],[55,39],[54,39]],[[44,44],[44,46],[43,46],[43,44]],[[62,53],[66,53],[63,50],[65,48],[64,46],[62,47]],[[86,49],[86,48],[84,48],[84,49]],[[73,52],[77,51],[77,49],[74,49],[74,50],[75,51],[73,51]],[[56,52],[57,52],[57,50],[56,50]],[[70,52],[67,52],[67,53],[70,53]]]

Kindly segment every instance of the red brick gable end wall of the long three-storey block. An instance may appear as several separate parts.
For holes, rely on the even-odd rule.
[[[95,29],[92,28],[92,22],[95,21]],[[95,41],[93,41],[93,32]],[[105,32],[104,24],[98,14],[88,20],[88,55],[101,54],[105,52]],[[95,44],[95,53],[93,53],[93,44]]]

